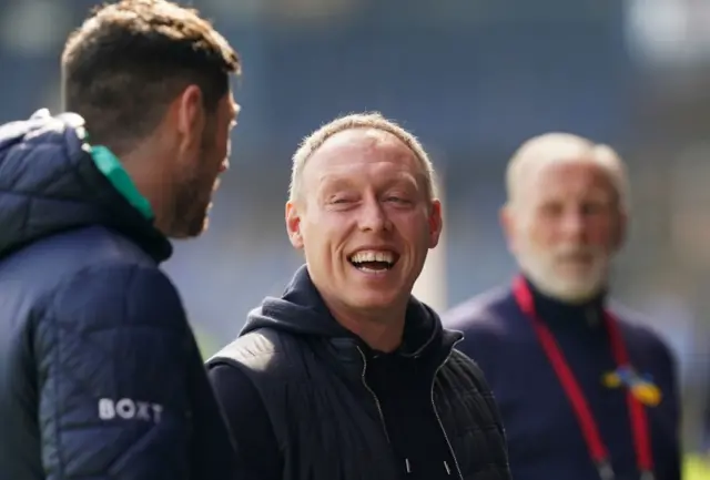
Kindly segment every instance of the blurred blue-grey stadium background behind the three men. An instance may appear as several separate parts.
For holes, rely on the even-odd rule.
[[[0,122],[59,109],[63,41],[97,3],[2,0]],[[709,0],[191,3],[245,69],[211,228],[178,244],[166,267],[205,355],[302,263],[283,223],[290,156],[322,123],[378,110],[430,152],[446,234],[417,294],[439,309],[508,282],[497,221],[506,162],[529,136],[569,131],[629,164],[632,227],[613,288],[676,353],[686,449],[710,448]]]

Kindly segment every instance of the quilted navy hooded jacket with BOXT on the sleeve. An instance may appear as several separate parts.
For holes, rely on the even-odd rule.
[[[171,245],[75,115],[0,127],[0,478],[226,479],[233,449]]]

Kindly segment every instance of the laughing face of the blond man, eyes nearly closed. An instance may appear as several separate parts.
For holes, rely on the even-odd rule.
[[[328,307],[403,308],[442,231],[414,152],[386,132],[346,130],[313,153],[301,185],[288,234]]]

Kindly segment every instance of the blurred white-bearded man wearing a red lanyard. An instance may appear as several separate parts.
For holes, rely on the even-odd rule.
[[[669,349],[608,302],[627,188],[606,145],[565,133],[526,142],[501,211],[521,276],[445,315],[490,381],[516,480],[680,478]]]

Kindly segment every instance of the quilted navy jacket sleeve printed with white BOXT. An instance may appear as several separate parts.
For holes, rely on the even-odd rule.
[[[34,337],[48,480],[189,478],[190,335],[156,268],[92,267],[65,279]]]

